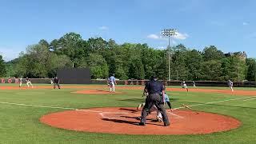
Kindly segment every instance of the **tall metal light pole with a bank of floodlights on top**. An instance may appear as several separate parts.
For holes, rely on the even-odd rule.
[[[170,81],[170,38],[173,35],[176,35],[176,29],[164,29],[161,31],[161,35],[163,37],[168,37],[168,51],[169,51],[169,56],[168,56],[168,64],[169,64],[169,81]]]

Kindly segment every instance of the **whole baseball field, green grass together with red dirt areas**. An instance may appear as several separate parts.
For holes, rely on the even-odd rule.
[[[255,143],[255,88],[166,88],[170,126],[138,126],[142,86],[0,85],[0,143]],[[187,106],[187,107],[186,107]]]

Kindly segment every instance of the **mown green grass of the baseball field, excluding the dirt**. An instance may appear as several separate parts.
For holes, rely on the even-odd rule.
[[[17,86],[17,85],[0,85]],[[50,85],[48,85],[50,86]],[[102,86],[105,87],[106,86]],[[206,87],[210,88],[210,87]],[[217,89],[217,87],[214,87]],[[220,89],[228,89],[221,87]],[[118,90],[118,87],[117,87]],[[254,90],[241,88],[241,90]],[[118,90],[125,94],[85,95],[72,94],[74,89],[62,90],[0,90],[0,102],[15,102],[30,105],[61,106],[72,108],[137,106],[143,102],[142,90]],[[229,94],[206,94],[196,92],[167,92],[174,107],[182,103],[194,105],[225,99],[241,98]],[[31,106],[14,106],[0,103],[0,143],[255,143],[256,100],[229,101],[194,106],[194,110],[213,112],[238,118],[242,126],[235,130],[200,135],[126,135],[96,134],[62,130],[39,122],[44,114],[59,109]]]

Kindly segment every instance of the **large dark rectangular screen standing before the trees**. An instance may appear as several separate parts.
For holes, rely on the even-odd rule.
[[[57,77],[62,84],[90,84],[90,70],[89,69],[60,69],[57,70]]]

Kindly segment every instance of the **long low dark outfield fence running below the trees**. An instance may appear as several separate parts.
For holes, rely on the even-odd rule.
[[[1,83],[19,83],[18,78],[0,78]],[[50,84],[52,78],[30,78],[32,83]],[[148,80],[118,80],[118,85],[145,85]],[[26,82],[26,79],[22,79]],[[62,83],[62,80],[60,80]],[[182,86],[181,81],[162,81],[166,86]],[[227,82],[219,81],[194,81],[196,86],[227,86]],[[106,80],[92,79],[92,84],[105,85]],[[256,82],[234,82],[234,87],[256,87]],[[186,81],[187,86],[193,86],[192,81]]]

